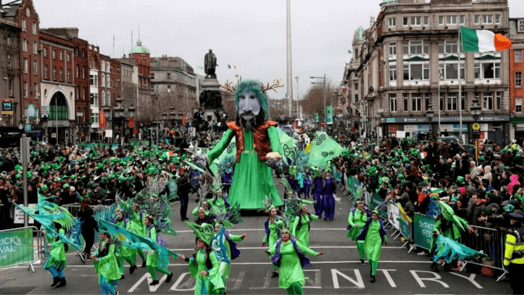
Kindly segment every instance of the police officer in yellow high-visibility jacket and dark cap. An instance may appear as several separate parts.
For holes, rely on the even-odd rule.
[[[524,294],[522,274],[524,274],[524,213],[510,213],[511,229],[506,236],[504,266],[507,268],[509,285],[514,294]]]

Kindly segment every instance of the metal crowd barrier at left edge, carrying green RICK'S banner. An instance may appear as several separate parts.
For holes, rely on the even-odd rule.
[[[34,237],[36,233],[36,237]],[[32,264],[39,258],[40,235],[35,226],[0,230],[3,254],[0,254],[0,268],[29,264],[27,270],[35,272]],[[36,240],[36,247],[35,247]]]

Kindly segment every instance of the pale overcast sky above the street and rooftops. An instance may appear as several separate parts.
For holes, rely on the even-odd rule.
[[[138,39],[151,57],[179,56],[196,73],[210,48],[222,83],[243,79],[286,84],[286,0],[33,0],[40,27],[78,27],[79,37],[100,46],[104,55],[122,57]],[[301,98],[310,76],[324,73],[340,82],[353,34],[369,27],[383,0],[291,0],[293,78]],[[508,0],[510,17],[524,17],[523,0]],[[115,38],[113,51],[113,36]],[[114,53],[113,53],[114,52]],[[228,69],[227,65],[237,69]],[[269,93],[285,96],[286,88]],[[297,98],[297,80],[293,79]]]

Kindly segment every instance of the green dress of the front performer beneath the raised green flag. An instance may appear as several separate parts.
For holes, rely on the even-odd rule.
[[[185,258],[186,261],[189,261],[189,272],[195,278],[194,294],[219,294],[225,289],[219,273],[219,263],[213,251],[209,252],[209,261],[206,261],[205,256],[206,250],[199,249],[196,252],[196,260],[193,257]],[[208,262],[211,262],[211,265]],[[208,272],[208,275],[202,275],[201,271]]]

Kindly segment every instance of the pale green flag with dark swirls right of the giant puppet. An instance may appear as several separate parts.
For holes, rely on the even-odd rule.
[[[332,140],[328,134],[322,131],[316,131],[311,140],[308,165],[324,167],[328,161],[339,156],[343,151],[344,148]]]

